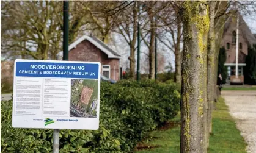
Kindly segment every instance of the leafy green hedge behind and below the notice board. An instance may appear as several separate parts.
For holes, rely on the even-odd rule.
[[[60,152],[131,152],[180,106],[175,84],[101,82],[100,128],[60,130]],[[52,152],[53,130],[12,128],[12,102],[1,102],[2,152]]]

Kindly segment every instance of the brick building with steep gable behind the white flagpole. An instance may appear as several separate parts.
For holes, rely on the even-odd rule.
[[[225,66],[227,66],[227,80],[230,82],[235,82],[235,79],[239,83],[244,82],[243,69],[246,66],[246,56],[248,55],[248,47],[252,44],[256,44],[256,37],[252,34],[251,30],[247,26],[243,19],[243,16],[239,14],[239,28],[238,28],[238,77],[235,78],[235,65],[236,65],[236,26],[237,17],[230,16],[224,26],[224,34],[222,37],[222,46],[225,47],[227,59],[225,61]]]

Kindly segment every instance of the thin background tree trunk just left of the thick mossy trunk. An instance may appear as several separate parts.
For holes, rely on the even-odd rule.
[[[181,84],[180,38],[181,38],[181,19],[180,19],[180,15],[177,15],[177,44],[175,49],[175,82],[177,84]]]

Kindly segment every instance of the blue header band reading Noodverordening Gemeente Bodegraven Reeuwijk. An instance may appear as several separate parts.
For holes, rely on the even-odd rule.
[[[98,79],[96,63],[16,62],[16,76]]]

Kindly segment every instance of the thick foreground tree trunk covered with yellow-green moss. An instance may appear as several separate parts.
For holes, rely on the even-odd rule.
[[[180,152],[205,150],[207,104],[207,34],[209,16],[205,1],[186,1],[183,15]]]

